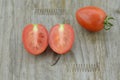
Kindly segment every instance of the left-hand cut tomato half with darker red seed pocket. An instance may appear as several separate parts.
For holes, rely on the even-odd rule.
[[[29,24],[23,30],[22,41],[29,53],[41,54],[48,46],[48,32],[41,24]]]

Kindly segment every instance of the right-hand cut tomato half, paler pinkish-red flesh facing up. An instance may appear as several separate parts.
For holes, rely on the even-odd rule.
[[[74,43],[74,30],[69,24],[56,24],[49,33],[49,45],[58,54],[67,53]]]

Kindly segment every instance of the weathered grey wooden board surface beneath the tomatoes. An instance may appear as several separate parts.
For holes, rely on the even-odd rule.
[[[77,23],[78,8],[94,5],[113,16],[114,27],[90,33]],[[46,9],[46,10],[45,10]],[[75,43],[58,58],[48,47],[33,56],[21,42],[25,25],[70,23]],[[120,0],[0,0],[0,80],[120,80]]]

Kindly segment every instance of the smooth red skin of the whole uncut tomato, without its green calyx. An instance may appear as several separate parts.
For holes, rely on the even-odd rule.
[[[106,13],[95,6],[87,6],[76,11],[78,23],[88,31],[98,32],[104,28]]]

